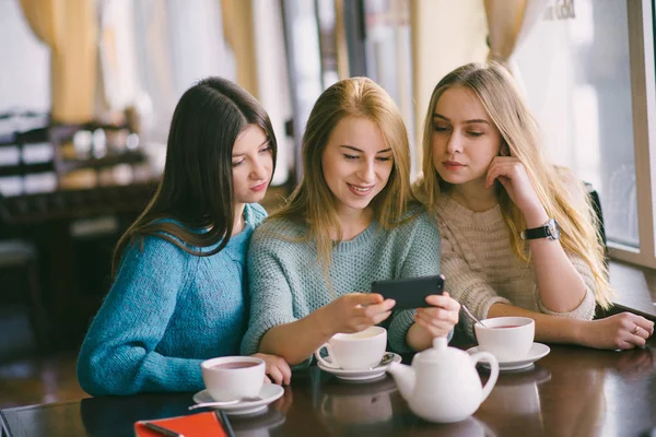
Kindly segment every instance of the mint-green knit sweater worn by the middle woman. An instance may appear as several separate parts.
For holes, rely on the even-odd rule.
[[[420,210],[400,226],[386,231],[373,222],[362,234],[332,250],[326,284],[316,245],[302,240],[307,227],[278,218],[262,224],[248,252],[250,324],[242,353],[256,353],[271,328],[296,321],[353,292],[370,292],[373,281],[440,273],[440,234],[435,221]],[[388,342],[395,352],[409,352],[406,333],[414,310],[395,311]],[[306,362],[309,363],[309,359]]]

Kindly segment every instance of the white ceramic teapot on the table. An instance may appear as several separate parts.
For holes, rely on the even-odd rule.
[[[482,387],[476,363],[490,363],[490,379]],[[430,422],[460,422],[488,398],[499,377],[499,362],[488,352],[469,355],[448,347],[445,338],[414,355],[412,366],[391,363],[387,368],[410,410]]]

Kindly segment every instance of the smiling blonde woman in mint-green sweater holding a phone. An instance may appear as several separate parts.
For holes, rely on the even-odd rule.
[[[370,79],[340,81],[319,96],[303,137],[303,180],[250,245],[242,352],[297,365],[333,334],[390,316],[396,352],[449,334],[459,305],[448,294],[393,315],[394,300],[366,293],[373,281],[440,272],[440,235],[412,203],[409,154],[398,108]]]

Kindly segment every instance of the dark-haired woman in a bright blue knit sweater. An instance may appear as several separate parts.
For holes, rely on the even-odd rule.
[[[118,241],[114,285],[80,351],[85,391],[201,390],[203,359],[239,353],[246,248],[276,152],[267,113],[236,84],[209,78],[181,96],[160,187]],[[259,356],[289,383],[282,358]]]

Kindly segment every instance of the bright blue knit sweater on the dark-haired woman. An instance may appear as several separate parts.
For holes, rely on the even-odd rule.
[[[245,229],[210,257],[159,237],[130,245],[82,344],[80,386],[93,395],[201,390],[200,363],[239,352],[246,249],[266,215],[247,204]]]

